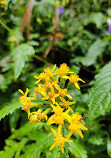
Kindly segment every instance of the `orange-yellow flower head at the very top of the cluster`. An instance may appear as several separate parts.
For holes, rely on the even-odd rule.
[[[61,64],[59,69],[57,69],[56,72],[55,72],[55,74],[58,74],[58,77],[63,77],[67,73],[73,73],[73,72],[69,72],[69,67],[65,63]]]

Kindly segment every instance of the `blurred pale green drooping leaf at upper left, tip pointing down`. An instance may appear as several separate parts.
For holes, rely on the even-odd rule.
[[[34,53],[34,48],[32,46],[29,46],[28,44],[21,44],[13,50],[12,55],[14,60],[15,79],[20,76],[22,69],[25,66],[25,63],[31,60]]]

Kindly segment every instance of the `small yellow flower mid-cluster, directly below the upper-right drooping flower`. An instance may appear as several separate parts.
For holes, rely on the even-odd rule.
[[[60,99],[65,96],[67,96],[69,99],[72,99],[72,97],[69,94],[67,94],[67,89],[61,89],[57,84],[55,85],[55,88],[58,90]]]

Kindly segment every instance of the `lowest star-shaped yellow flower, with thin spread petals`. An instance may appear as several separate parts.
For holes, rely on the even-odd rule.
[[[68,140],[68,138],[64,138],[61,134],[61,128],[62,126],[59,126],[58,127],[58,133],[53,129],[51,128],[51,131],[52,133],[54,134],[54,136],[56,137],[54,140],[54,144],[50,147],[50,151],[55,147],[55,146],[59,146],[62,150],[62,153],[64,153],[64,145],[65,145],[65,142],[72,142],[72,140]]]

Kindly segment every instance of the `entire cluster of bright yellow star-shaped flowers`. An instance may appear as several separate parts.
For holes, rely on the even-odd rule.
[[[71,74],[71,75],[70,75]],[[81,124],[83,122],[82,116],[79,113],[74,113],[70,105],[73,105],[75,101],[68,94],[68,88],[66,80],[68,79],[69,84],[74,84],[76,88],[80,89],[78,81],[83,81],[79,76],[70,72],[67,64],[60,65],[59,68],[54,65],[53,69],[44,69],[39,76],[34,76],[37,81],[35,84],[37,86],[34,88],[33,97],[28,97],[28,88],[24,93],[19,89],[19,92],[23,95],[20,97],[20,102],[23,104],[22,109],[28,113],[29,122],[44,121],[48,118],[48,113],[52,110],[53,114],[48,118],[47,124],[57,124],[58,133],[51,128],[52,133],[55,136],[55,142],[49,150],[52,150],[56,145],[58,145],[62,153],[64,153],[65,142],[72,142],[69,138],[72,136],[73,132],[78,133],[81,138],[83,134],[81,130],[85,131],[87,128]],[[45,106],[39,106],[39,103],[35,101],[45,101]],[[37,107],[36,112],[31,112],[31,108]],[[67,126],[64,126],[66,125]],[[62,129],[66,128],[69,131],[67,135],[62,135]]]

